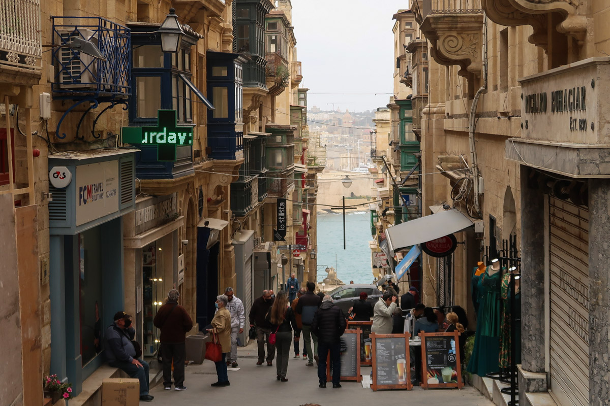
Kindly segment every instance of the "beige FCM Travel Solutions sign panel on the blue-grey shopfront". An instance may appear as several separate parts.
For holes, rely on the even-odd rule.
[[[118,161],[76,167],[76,225],[118,211]]]

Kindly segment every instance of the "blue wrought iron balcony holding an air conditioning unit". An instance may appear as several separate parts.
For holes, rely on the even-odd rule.
[[[54,99],[109,102],[131,96],[129,28],[99,17],[51,17],[51,23]],[[67,47],[74,38],[91,41],[106,60]]]

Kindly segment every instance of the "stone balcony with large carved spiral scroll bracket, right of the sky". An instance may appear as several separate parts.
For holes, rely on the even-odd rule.
[[[481,75],[483,9],[481,0],[418,0],[415,12],[440,65],[461,67],[463,77]]]

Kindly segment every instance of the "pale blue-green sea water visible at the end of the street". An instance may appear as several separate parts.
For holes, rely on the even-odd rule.
[[[370,212],[345,214],[345,250],[343,250],[343,214],[318,213],[318,282],[326,278],[325,268],[333,267],[345,284],[370,284],[371,237]]]

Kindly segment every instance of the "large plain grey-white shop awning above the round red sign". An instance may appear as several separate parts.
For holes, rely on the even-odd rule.
[[[472,220],[458,209],[452,209],[389,227],[386,236],[390,250],[396,251],[458,233],[473,225]]]

